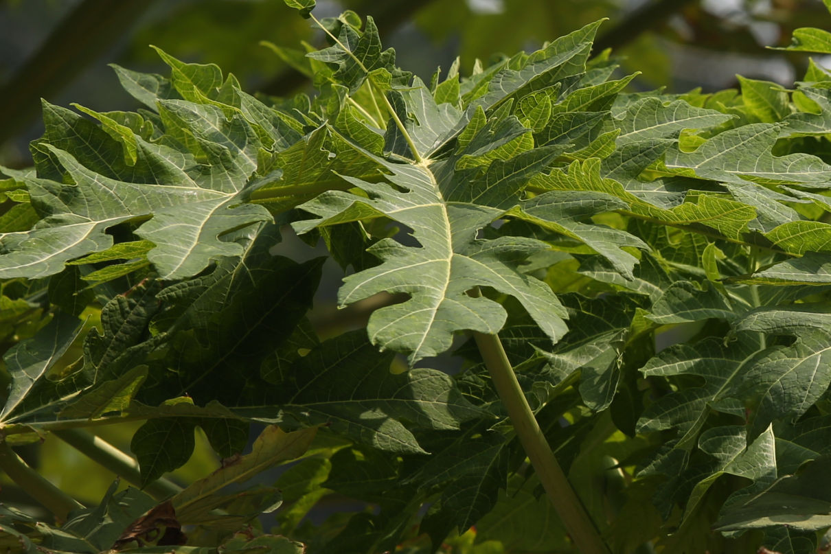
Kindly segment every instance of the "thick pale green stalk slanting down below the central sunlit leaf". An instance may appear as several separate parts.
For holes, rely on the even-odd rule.
[[[479,291],[476,290],[473,296],[479,296]],[[494,388],[499,393],[499,399],[508,411],[511,424],[519,436],[519,442],[528,454],[540,483],[543,483],[545,493],[578,551],[583,554],[608,554],[609,550],[603,543],[597,527],[568,483],[568,478],[563,473],[563,468],[560,468],[551,446],[548,445],[543,430],[539,428],[499,336],[475,332],[474,339]]]

